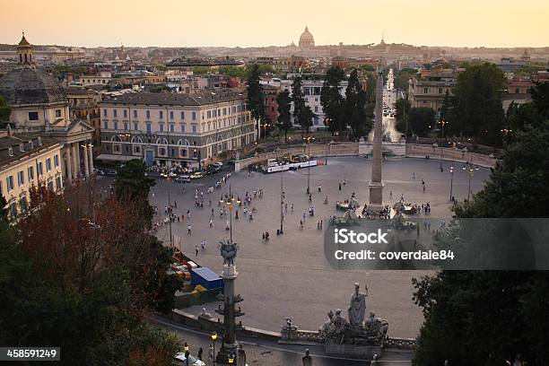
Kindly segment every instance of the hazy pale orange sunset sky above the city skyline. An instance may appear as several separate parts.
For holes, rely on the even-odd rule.
[[[0,43],[282,46],[549,46],[548,0],[0,0]]]

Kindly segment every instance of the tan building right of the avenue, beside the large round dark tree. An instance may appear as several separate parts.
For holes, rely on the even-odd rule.
[[[452,70],[423,71],[408,81],[408,100],[412,108],[431,108],[440,112],[446,92],[453,95],[457,72]]]

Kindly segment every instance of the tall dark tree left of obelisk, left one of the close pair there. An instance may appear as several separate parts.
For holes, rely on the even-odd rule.
[[[320,92],[320,105],[326,118],[330,119],[332,132],[339,131],[342,134],[347,128],[347,122],[344,120],[344,97],[341,95],[341,82],[345,79],[345,74],[339,67],[330,67],[327,69],[326,78],[322,92]]]

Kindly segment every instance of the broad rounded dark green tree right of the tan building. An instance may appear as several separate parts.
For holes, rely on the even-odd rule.
[[[505,75],[494,64],[470,65],[457,76],[454,108],[449,113],[449,132],[468,135],[473,144],[501,145],[504,112],[501,92]]]

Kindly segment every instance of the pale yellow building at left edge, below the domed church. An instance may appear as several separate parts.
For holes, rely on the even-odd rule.
[[[30,187],[43,183],[53,191],[63,189],[61,148],[39,135],[0,132],[0,194],[12,217],[27,209]]]

